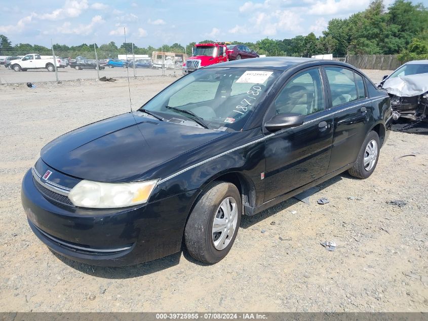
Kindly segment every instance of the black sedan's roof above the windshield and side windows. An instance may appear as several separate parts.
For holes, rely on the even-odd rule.
[[[243,67],[243,68],[263,68],[263,69],[277,69],[287,70],[297,65],[340,65],[344,67],[351,67],[356,69],[354,66],[344,62],[336,60],[322,60],[315,58],[301,58],[301,57],[262,57],[262,58],[251,58],[251,59],[240,59],[227,61],[209,65],[205,68],[227,68],[227,67]]]

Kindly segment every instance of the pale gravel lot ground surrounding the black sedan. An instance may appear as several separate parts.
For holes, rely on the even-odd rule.
[[[174,80],[131,79],[134,108]],[[427,136],[392,132],[369,179],[343,173],[319,185],[310,205],[292,198],[243,217],[216,265],[178,253],[102,268],[57,256],[35,237],[20,183],[51,139],[129,111],[128,83],[36,85],[0,86],[0,311],[428,312]],[[321,197],[330,203],[318,205]],[[334,252],[320,245],[330,240]]]

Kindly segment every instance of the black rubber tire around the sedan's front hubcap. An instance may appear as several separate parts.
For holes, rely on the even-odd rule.
[[[219,250],[214,246],[213,240],[214,218],[221,214],[220,204],[229,197],[236,201],[238,220],[231,238],[226,236],[230,241]],[[214,182],[210,185],[194,206],[184,229],[184,242],[189,254],[194,259],[208,264],[221,261],[234,244],[241,223],[241,214],[241,195],[235,185],[226,182]]]

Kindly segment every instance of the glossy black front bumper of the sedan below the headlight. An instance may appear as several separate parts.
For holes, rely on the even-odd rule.
[[[44,197],[29,170],[21,200],[34,234],[72,260],[125,266],[180,251],[184,225],[198,190],[121,209],[84,209]]]

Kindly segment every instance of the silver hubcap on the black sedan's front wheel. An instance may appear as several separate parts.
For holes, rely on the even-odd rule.
[[[231,241],[237,229],[238,206],[233,197],[225,198],[218,206],[213,222],[214,247],[221,251]]]

